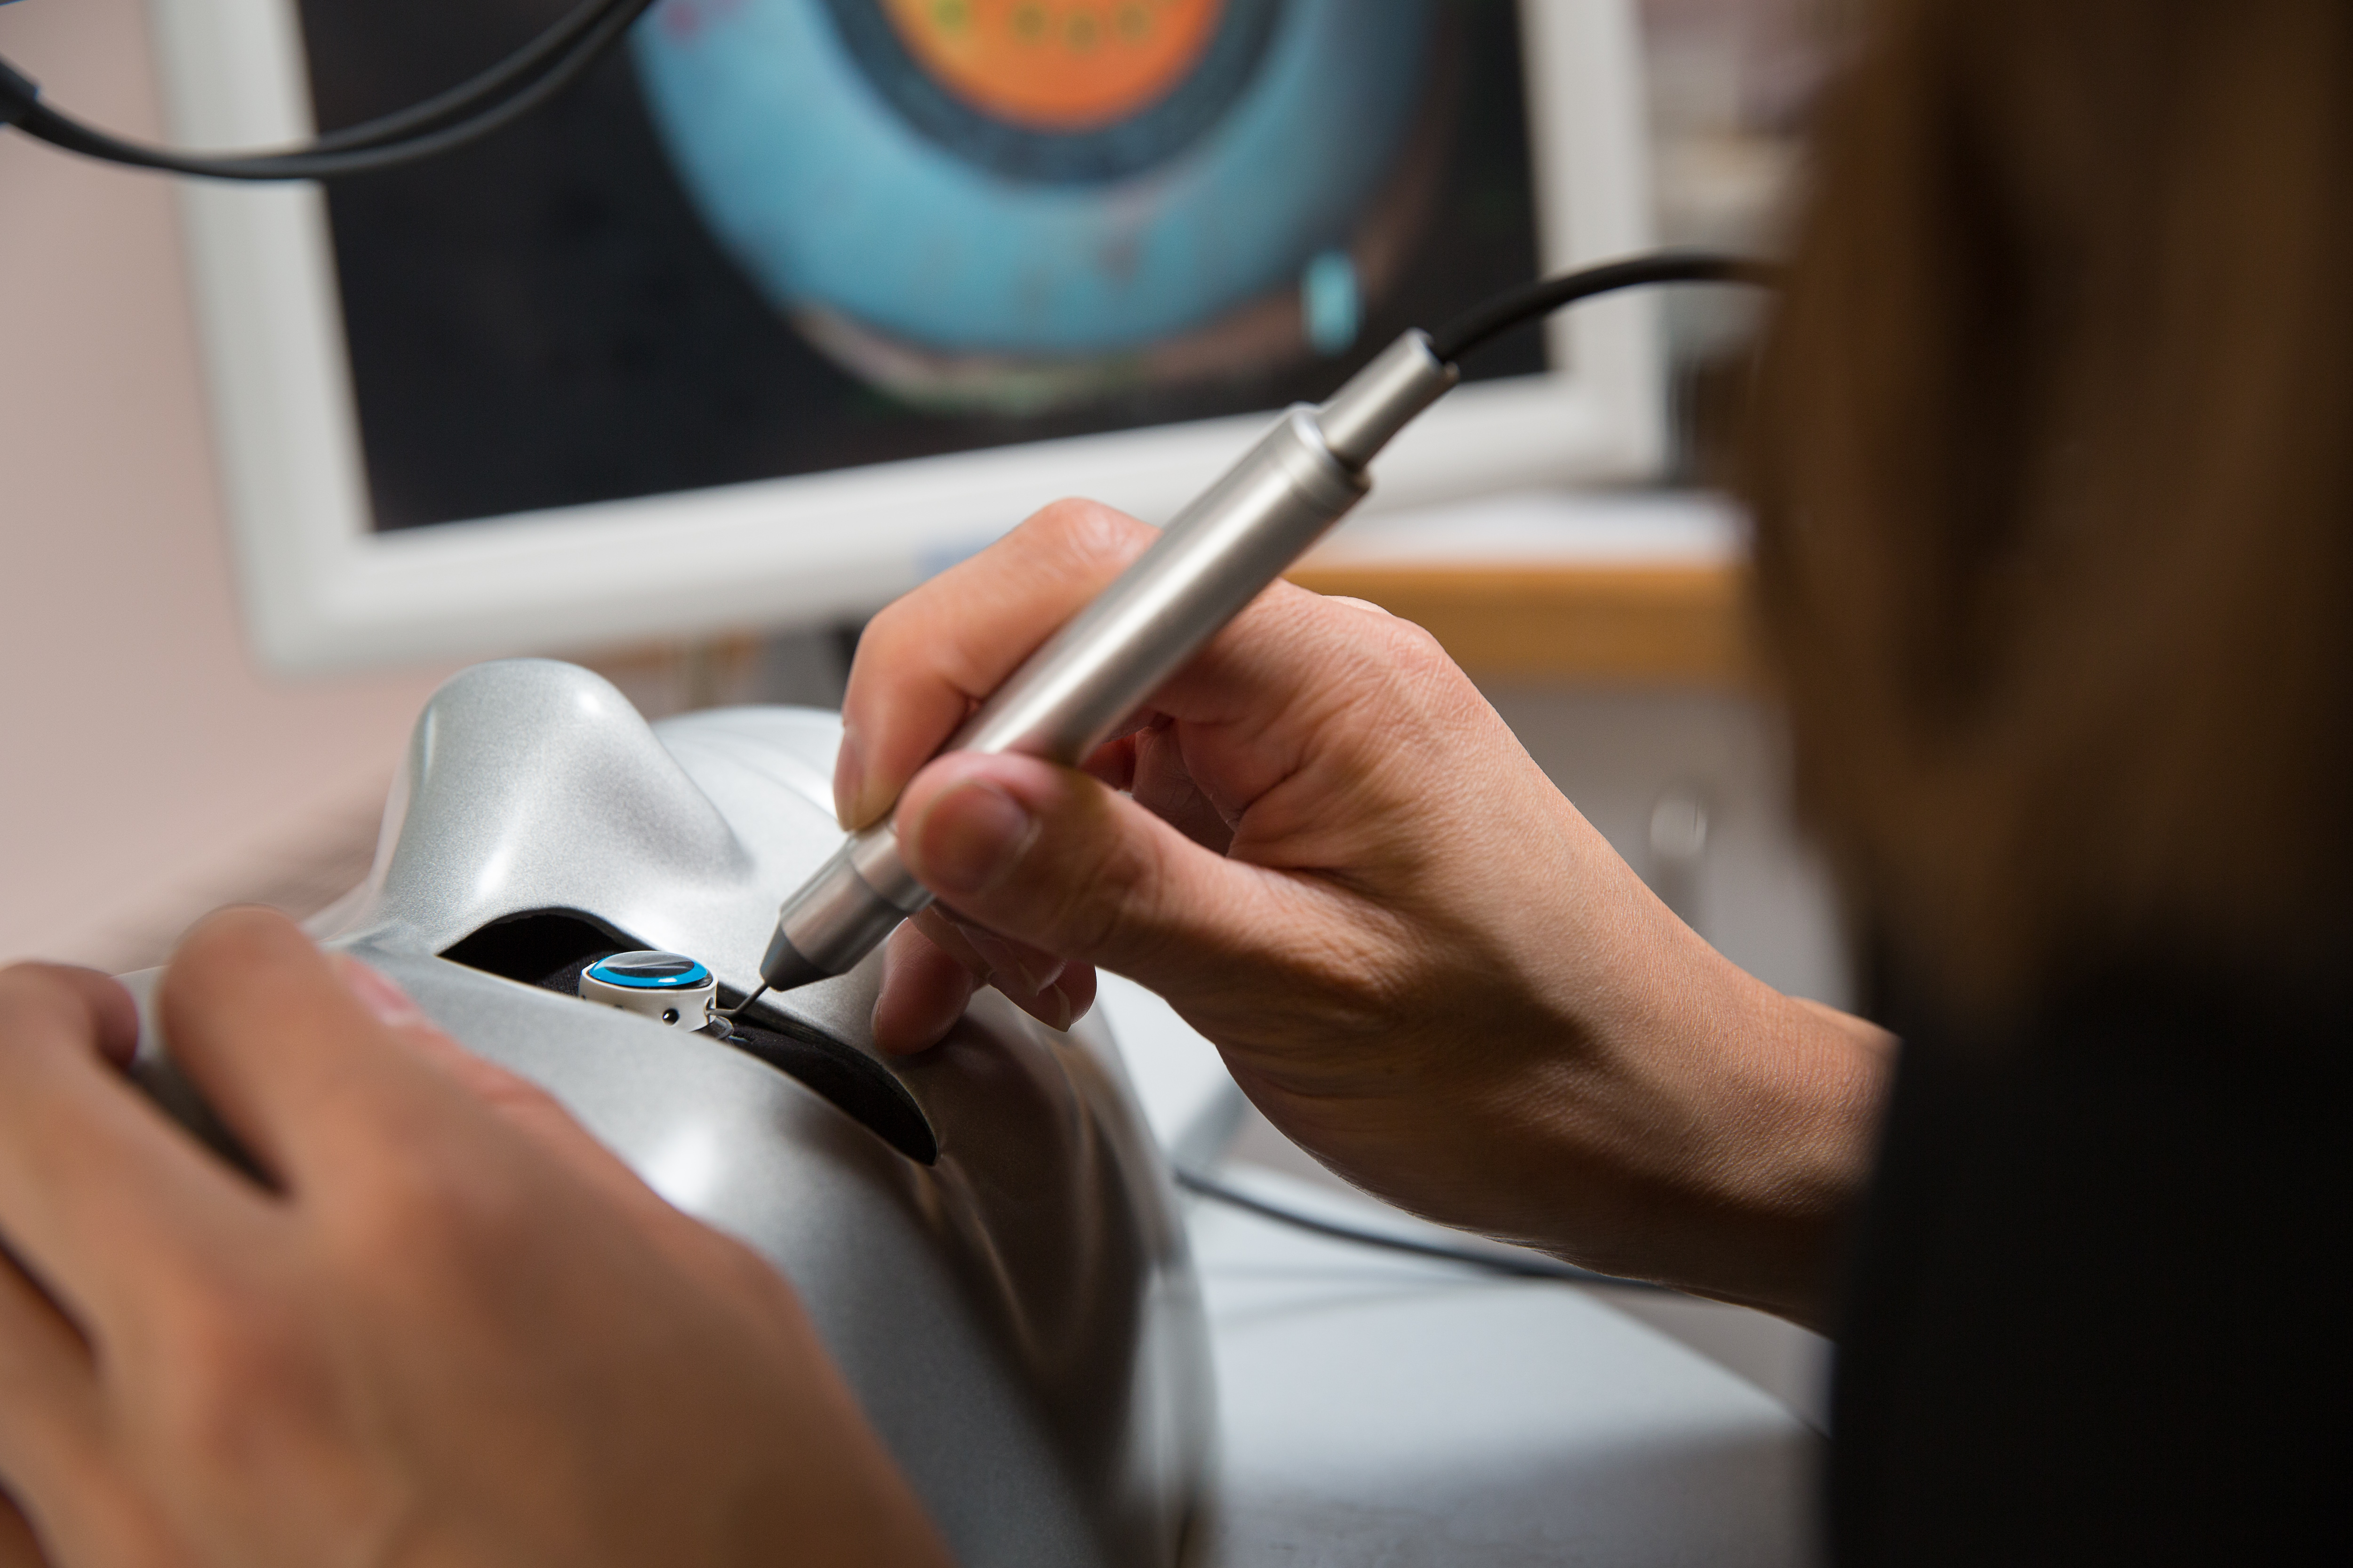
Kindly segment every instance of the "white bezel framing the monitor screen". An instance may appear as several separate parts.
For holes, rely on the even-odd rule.
[[[153,12],[181,143],[311,134],[294,0],[153,0]],[[1520,0],[1520,14],[1546,270],[1642,249],[1631,0]],[[1245,414],[376,534],[320,190],[188,181],[181,200],[247,628],[285,672],[861,616],[1056,496],[1162,520],[1266,423]],[[1664,411],[1649,301],[1600,301],[1551,334],[1572,369],[1461,388],[1381,456],[1377,498],[1428,505],[1652,473]]]

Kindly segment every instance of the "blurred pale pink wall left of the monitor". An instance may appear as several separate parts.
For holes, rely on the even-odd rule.
[[[162,134],[139,0],[12,5],[0,52]],[[0,957],[144,961],[348,879],[442,675],[256,672],[195,353],[172,186],[0,136]]]

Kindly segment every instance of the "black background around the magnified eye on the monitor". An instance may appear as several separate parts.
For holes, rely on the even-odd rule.
[[[565,0],[304,0],[318,122],[424,99]],[[1525,282],[1537,209],[1511,0],[1447,0],[1424,129],[1438,179],[1351,353],[1047,414],[941,414],[861,383],[736,270],[614,54],[558,103],[414,169],[329,188],[376,529],[689,491],[1271,409],[1407,327]],[[1522,334],[1478,378],[1546,369]]]

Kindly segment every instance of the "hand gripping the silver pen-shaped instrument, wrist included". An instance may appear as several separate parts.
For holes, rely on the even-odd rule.
[[[1682,926],[1419,628],[1278,583],[1085,769],[932,759],[1153,538],[1059,503],[868,625],[838,809],[892,813],[939,896],[892,938],[885,1048],[981,978],[1068,1025],[1104,964],[1374,1192],[1817,1316],[1882,1037]]]

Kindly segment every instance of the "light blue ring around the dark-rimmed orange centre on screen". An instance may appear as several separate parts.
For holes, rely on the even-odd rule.
[[[1278,0],[1259,68],[1122,179],[993,174],[915,127],[828,0],[666,0],[633,33],[696,212],[784,310],[941,353],[1080,357],[1202,327],[1341,249],[1426,92],[1435,0]]]

